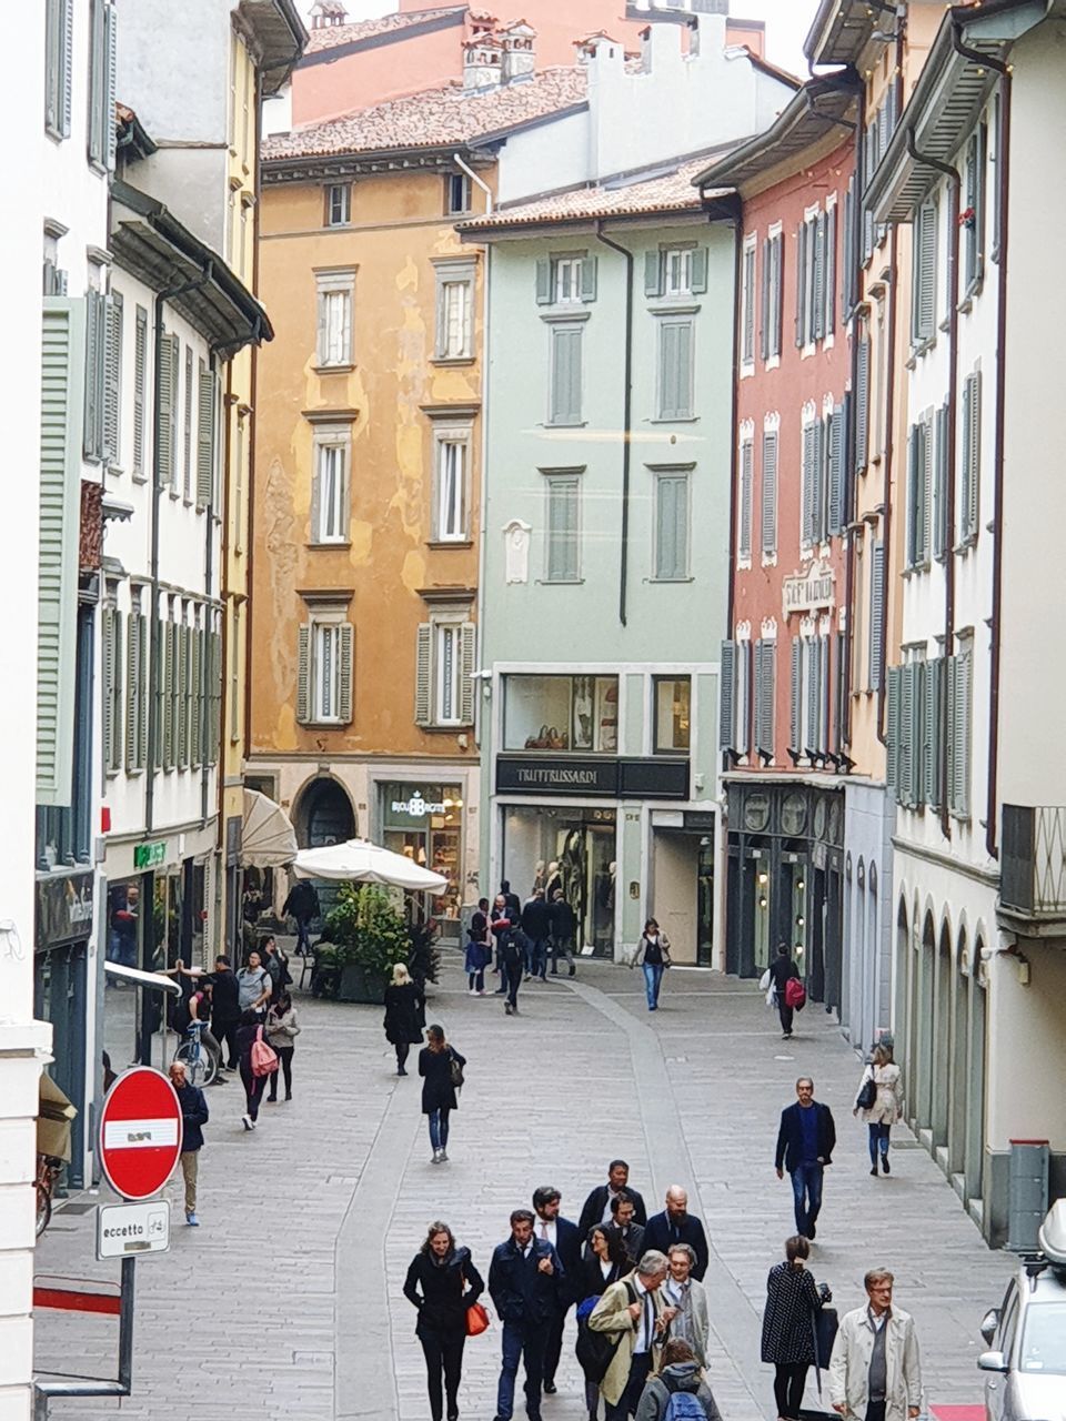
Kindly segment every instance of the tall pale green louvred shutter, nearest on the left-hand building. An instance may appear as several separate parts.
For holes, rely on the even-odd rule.
[[[77,661],[85,303],[44,298],[37,571],[37,803],[70,804]]]

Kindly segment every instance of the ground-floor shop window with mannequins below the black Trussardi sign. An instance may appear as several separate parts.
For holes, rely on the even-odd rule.
[[[574,909],[578,951],[614,951],[615,811],[576,806],[510,806],[503,811],[505,878],[520,898],[546,865]],[[554,865],[554,868],[553,868]]]

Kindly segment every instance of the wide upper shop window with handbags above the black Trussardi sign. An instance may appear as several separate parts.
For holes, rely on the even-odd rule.
[[[506,676],[506,750],[618,753],[617,676]]]

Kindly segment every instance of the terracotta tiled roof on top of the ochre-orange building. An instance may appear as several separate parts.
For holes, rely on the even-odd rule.
[[[463,92],[462,84],[455,82],[389,99],[324,124],[306,124],[290,134],[274,134],[263,139],[263,159],[270,162],[469,144],[581,104],[586,97],[587,75],[577,65],[542,70],[529,80],[516,80],[482,92]]]

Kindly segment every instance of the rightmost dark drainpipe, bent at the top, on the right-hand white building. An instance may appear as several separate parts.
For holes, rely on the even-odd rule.
[[[996,288],[996,415],[992,493],[992,645],[988,679],[988,799],[985,803],[985,848],[999,858],[999,617],[1003,601],[1003,449],[1006,445],[1006,242],[1011,198],[1011,70],[991,54],[968,50],[959,24],[951,27],[957,54],[975,60],[999,74],[999,135],[996,138],[996,185],[999,188],[999,277]]]

